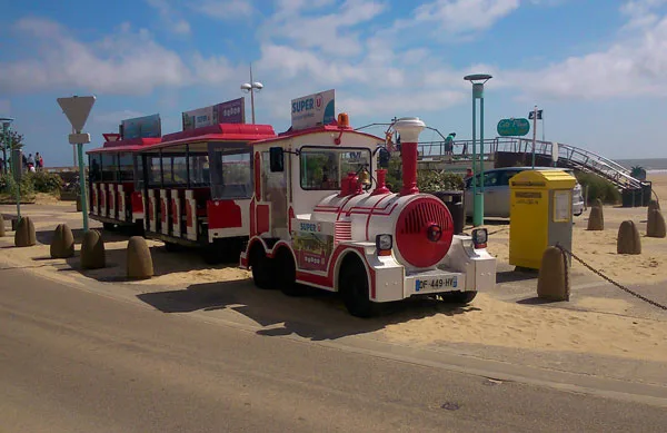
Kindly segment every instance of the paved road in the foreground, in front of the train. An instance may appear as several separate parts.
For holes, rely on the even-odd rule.
[[[417,366],[0,270],[0,432],[664,432],[664,407]]]

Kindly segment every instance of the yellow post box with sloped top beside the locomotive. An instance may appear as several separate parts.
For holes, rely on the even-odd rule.
[[[539,269],[548,246],[571,250],[575,177],[560,170],[526,170],[509,185],[509,264]]]

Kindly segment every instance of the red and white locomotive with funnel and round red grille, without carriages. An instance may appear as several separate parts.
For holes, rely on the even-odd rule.
[[[378,303],[412,296],[470,302],[496,284],[486,229],[454,235],[451,215],[417,188],[417,142],[425,124],[404,118],[402,189],[376,169],[379,137],[338,121],[256,141],[250,238],[241,267],[255,284],[288,295],[302,285],[340,292],[348,311],[372,315]]]

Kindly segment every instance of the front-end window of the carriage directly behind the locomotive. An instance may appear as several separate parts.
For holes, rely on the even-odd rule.
[[[211,167],[211,187],[217,198],[249,198],[252,196],[250,152],[215,150]]]

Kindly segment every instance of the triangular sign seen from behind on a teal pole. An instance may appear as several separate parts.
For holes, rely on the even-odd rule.
[[[58,98],[58,105],[72,125],[73,134],[69,135],[69,142],[77,145],[79,155],[79,183],[81,185],[81,213],[83,214],[83,232],[88,232],[88,209],[86,197],[86,170],[83,168],[83,145],[90,142],[90,134],[81,132],[90,109],[94,105],[94,96],[73,96],[71,98]]]

